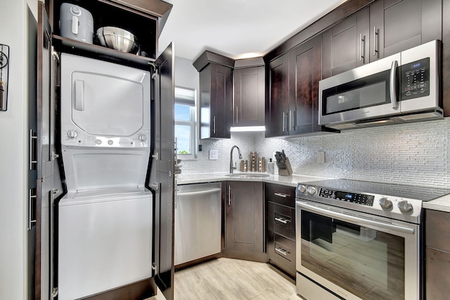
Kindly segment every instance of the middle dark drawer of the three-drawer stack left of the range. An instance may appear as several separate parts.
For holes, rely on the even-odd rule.
[[[295,240],[295,209],[269,202],[267,218],[269,230]]]

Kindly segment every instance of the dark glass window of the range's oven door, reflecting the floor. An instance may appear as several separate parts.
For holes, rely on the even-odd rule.
[[[404,299],[404,237],[301,211],[301,264],[361,299]]]

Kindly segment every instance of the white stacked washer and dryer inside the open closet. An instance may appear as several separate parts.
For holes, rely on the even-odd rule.
[[[58,299],[152,275],[150,73],[62,53]]]

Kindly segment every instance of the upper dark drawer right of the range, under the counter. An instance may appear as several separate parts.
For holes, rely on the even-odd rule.
[[[450,213],[427,209],[425,226],[427,246],[450,252]]]

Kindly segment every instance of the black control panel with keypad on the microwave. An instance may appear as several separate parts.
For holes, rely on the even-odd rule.
[[[430,58],[401,65],[401,100],[430,95]]]

